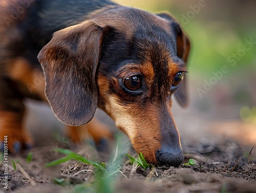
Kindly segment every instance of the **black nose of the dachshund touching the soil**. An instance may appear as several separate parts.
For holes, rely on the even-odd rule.
[[[159,166],[174,166],[178,167],[184,160],[184,155],[179,148],[177,151],[174,149],[159,149],[156,152],[156,159]]]

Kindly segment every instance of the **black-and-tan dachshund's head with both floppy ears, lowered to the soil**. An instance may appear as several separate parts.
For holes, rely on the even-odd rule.
[[[185,106],[189,41],[167,13],[119,8],[56,32],[38,55],[58,119],[89,122],[97,106],[157,165],[183,162],[170,106]],[[183,80],[183,81],[182,81]]]

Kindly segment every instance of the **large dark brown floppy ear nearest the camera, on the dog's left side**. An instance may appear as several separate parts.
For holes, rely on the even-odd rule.
[[[95,73],[103,29],[84,22],[55,32],[38,59],[46,79],[46,97],[55,116],[68,125],[89,122],[96,111]]]

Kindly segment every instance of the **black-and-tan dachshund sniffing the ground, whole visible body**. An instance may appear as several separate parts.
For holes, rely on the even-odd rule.
[[[55,116],[75,128],[91,121],[98,107],[148,163],[183,162],[170,107],[173,94],[187,105],[190,43],[172,15],[108,0],[0,5],[0,137],[8,136],[9,151],[33,144],[23,126],[29,97],[48,101]],[[45,79],[40,85],[38,77]]]

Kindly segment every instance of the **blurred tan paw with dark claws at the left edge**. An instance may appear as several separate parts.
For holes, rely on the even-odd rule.
[[[1,128],[0,129],[0,151],[20,153],[23,149],[33,146],[32,138],[23,128]]]

